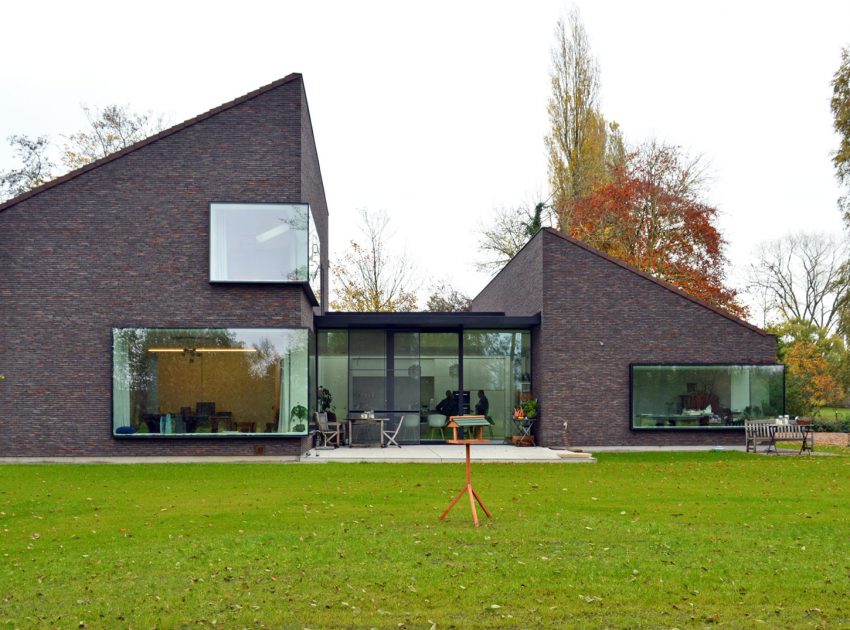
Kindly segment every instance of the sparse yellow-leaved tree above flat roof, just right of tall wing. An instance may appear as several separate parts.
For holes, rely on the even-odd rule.
[[[413,268],[403,253],[388,246],[389,217],[386,212],[360,210],[363,238],[351,241],[351,249],[333,264],[335,311],[415,311]]]

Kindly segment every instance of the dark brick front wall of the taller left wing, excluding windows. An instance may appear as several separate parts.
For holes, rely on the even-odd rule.
[[[0,211],[0,456],[301,451],[113,438],[111,328],[312,325],[298,286],[208,281],[210,201],[324,204],[302,190],[303,99],[296,78]]]

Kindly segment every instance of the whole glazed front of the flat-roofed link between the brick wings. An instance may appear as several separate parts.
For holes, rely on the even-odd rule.
[[[404,417],[405,442],[441,439],[428,416],[442,412],[486,415],[494,438],[509,436],[513,408],[532,396],[529,331],[355,329],[317,336],[319,408],[337,420],[363,411]]]

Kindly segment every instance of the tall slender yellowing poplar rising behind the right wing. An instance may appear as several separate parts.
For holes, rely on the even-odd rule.
[[[619,127],[600,112],[599,66],[577,11],[556,26],[551,86],[549,183],[558,227],[569,231],[575,203],[606,178],[623,147]]]

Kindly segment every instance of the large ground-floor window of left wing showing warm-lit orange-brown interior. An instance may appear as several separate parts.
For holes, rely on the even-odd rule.
[[[306,329],[113,329],[116,435],[306,435]]]

